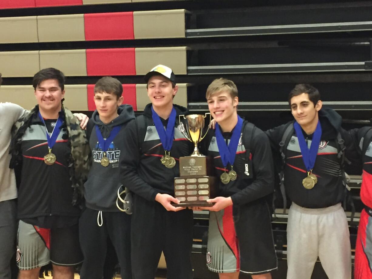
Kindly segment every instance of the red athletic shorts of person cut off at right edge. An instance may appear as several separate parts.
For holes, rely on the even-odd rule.
[[[372,212],[371,212],[372,214]],[[360,213],[355,245],[354,278],[372,279],[372,217],[366,209]]]

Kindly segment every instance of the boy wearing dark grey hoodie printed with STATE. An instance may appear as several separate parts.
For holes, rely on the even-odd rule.
[[[84,183],[84,209],[79,221],[80,245],[84,255],[81,279],[101,279],[108,238],[115,247],[121,278],[131,279],[130,215],[116,207],[121,186],[119,158],[127,148],[126,125],[135,118],[133,108],[123,103],[123,87],[113,77],[103,77],[94,86],[96,110],[88,122],[92,167]]]

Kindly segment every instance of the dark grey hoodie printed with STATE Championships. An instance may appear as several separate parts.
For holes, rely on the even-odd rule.
[[[123,150],[127,147],[123,138],[126,134],[126,125],[135,118],[133,108],[130,105],[121,105],[118,108],[119,116],[109,124],[104,124],[99,119],[99,114],[93,112],[92,121],[95,125],[89,138],[92,150],[92,167],[88,174],[88,180],[84,183],[84,197],[87,208],[100,211],[119,211],[116,207],[118,188],[121,185],[119,177],[119,159]],[[110,163],[107,167],[101,165],[103,151],[98,144],[96,128],[98,126],[102,137],[107,138],[114,126],[122,125],[119,133],[113,139],[107,150],[106,156]]]

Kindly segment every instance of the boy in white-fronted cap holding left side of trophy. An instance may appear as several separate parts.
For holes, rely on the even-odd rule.
[[[178,87],[169,67],[157,65],[145,81],[151,103],[127,126],[120,163],[121,182],[134,193],[132,271],[136,279],[154,278],[163,251],[167,278],[190,279],[193,212],[171,204],[179,203],[179,157],[193,151],[178,120],[187,109],[173,104]]]

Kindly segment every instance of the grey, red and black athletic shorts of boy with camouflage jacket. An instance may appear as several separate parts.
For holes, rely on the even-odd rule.
[[[19,221],[17,265],[21,270],[45,266],[74,266],[83,262],[78,224],[45,229]]]

